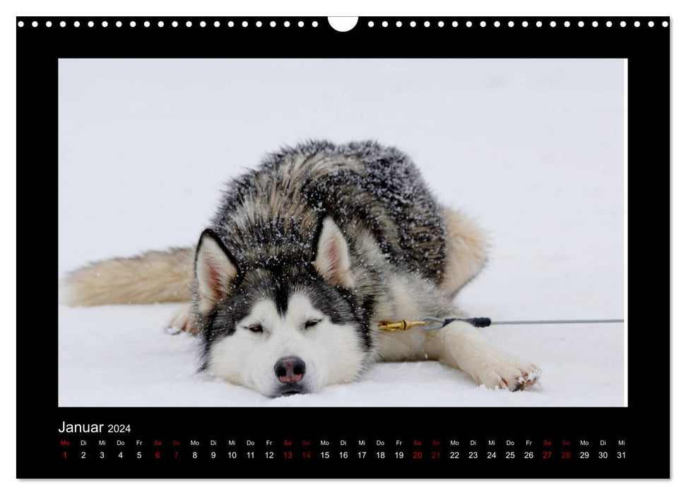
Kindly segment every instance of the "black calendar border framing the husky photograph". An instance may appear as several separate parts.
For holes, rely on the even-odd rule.
[[[52,21],[47,28],[45,21]],[[262,26],[258,28],[256,21]],[[654,478],[670,476],[670,327],[668,255],[659,272],[656,233],[669,231],[669,18],[484,17],[360,18],[348,33],[326,18],[17,18],[17,476],[18,477],[507,477]],[[34,21],[37,27],[32,27]],[[63,28],[61,21],[66,23]],[[74,21],[79,21],[78,28]],[[88,21],[94,21],[89,28]],[[102,27],[107,21],[108,27]],[[122,27],[116,26],[117,21]],[[131,27],[134,21],[136,27]],[[143,23],[150,21],[150,27]],[[159,27],[162,21],[164,27]],[[172,22],[177,21],[178,27]],[[192,26],[186,27],[187,21]],[[201,28],[200,21],[207,25]],[[220,28],[213,23],[219,21]],[[227,26],[228,21],[234,27]],[[247,27],[243,27],[247,21]],[[276,27],[268,23],[276,21]],[[289,21],[286,28],[284,22]],[[302,28],[297,22],[305,21]],[[317,27],[312,26],[317,21]],[[374,27],[368,23],[372,21]],[[383,22],[388,23],[383,27]],[[400,21],[402,27],[396,26]],[[416,22],[411,28],[410,21]],[[425,28],[428,21],[430,27]],[[444,21],[439,27],[438,21]],[[457,28],[451,23],[457,21]],[[471,21],[471,27],[466,27]],[[499,27],[495,26],[499,21]],[[514,27],[508,23],[514,22]],[[524,27],[523,21],[528,25]],[[542,25],[538,27],[536,23]],[[550,25],[555,21],[555,27]],[[579,27],[579,21],[584,27]],[[598,22],[593,27],[593,21]],[[612,23],[608,27],[607,23]],[[620,23],[624,21],[625,27]],[[640,27],[634,22],[639,21]],[[654,26],[648,25],[649,21]],[[485,27],[481,23],[485,22]],[[569,27],[564,25],[569,22]],[[629,407],[617,408],[66,408],[57,407],[57,61],[59,58],[626,58],[629,88]],[[662,163],[662,165],[660,165]],[[660,172],[659,167],[664,170]],[[37,174],[42,175],[38,176]],[[660,199],[662,198],[662,199]],[[663,214],[658,205],[662,204]],[[35,218],[33,212],[39,211]],[[45,213],[50,212],[49,221]],[[645,219],[650,218],[650,223]],[[37,236],[37,234],[39,234]],[[21,242],[21,241],[24,242]],[[30,242],[26,242],[30,240]],[[589,242],[592,242],[590,240]],[[659,275],[662,274],[662,275]],[[658,281],[663,289],[658,290]],[[36,297],[36,288],[47,293]],[[664,302],[651,296],[662,293]],[[41,301],[52,301],[47,304]],[[49,310],[47,310],[49,308]],[[659,310],[659,308],[664,308]],[[37,314],[35,313],[37,311]],[[44,313],[45,311],[45,313]],[[36,318],[36,316],[40,317]],[[42,363],[37,365],[37,363]],[[288,421],[283,421],[288,418]],[[626,438],[627,460],[588,465],[454,467],[338,462],[293,470],[244,463],[217,471],[206,464],[89,465],[57,460],[62,421],[131,424],[131,437],[466,438],[531,436]],[[284,422],[289,424],[285,431]],[[254,429],[252,431],[251,429]],[[539,462],[540,463],[540,462]]]

